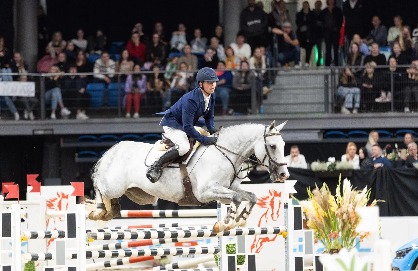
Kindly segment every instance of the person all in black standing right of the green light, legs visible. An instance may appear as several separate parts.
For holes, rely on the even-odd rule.
[[[340,28],[343,22],[342,11],[335,6],[335,0],[327,0],[326,3],[328,7],[321,13],[326,51],[325,66],[331,66],[331,48],[334,49],[334,65],[338,66]]]

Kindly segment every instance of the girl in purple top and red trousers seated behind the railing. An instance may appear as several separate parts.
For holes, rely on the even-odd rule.
[[[134,72],[138,74],[128,74],[125,82],[125,98],[126,118],[130,118],[132,109],[132,100],[134,105],[134,118],[139,118],[140,99],[143,99],[145,92],[147,92],[147,77],[145,74],[140,74],[141,66],[138,64],[134,67]]]

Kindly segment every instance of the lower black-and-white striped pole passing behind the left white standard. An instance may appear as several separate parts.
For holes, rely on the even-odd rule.
[[[138,256],[177,256],[194,254],[217,254],[221,250],[218,246],[190,247],[190,248],[146,248],[146,249],[119,249],[110,251],[86,251],[87,259],[125,258]],[[49,261],[55,259],[55,253],[23,253],[24,261]],[[75,253],[66,253],[67,260],[77,258]]]

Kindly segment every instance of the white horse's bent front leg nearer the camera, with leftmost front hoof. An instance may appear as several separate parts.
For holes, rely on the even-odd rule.
[[[240,194],[218,183],[210,183],[199,191],[199,197],[202,202],[220,201],[223,204],[230,204],[227,215],[222,221],[218,221],[213,226],[213,233],[219,233],[224,230],[234,228],[237,217],[238,207],[241,204]]]

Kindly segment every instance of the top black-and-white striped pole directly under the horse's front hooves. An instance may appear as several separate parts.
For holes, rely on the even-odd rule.
[[[143,231],[143,232],[112,232],[112,233],[87,233],[87,238],[93,240],[133,240],[133,239],[168,239],[168,238],[196,238],[196,237],[220,237],[237,235],[265,235],[284,233],[286,228],[258,227],[258,228],[235,228],[222,231],[218,234],[212,230],[178,230],[178,231]]]

